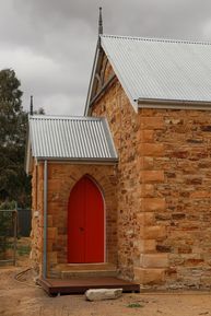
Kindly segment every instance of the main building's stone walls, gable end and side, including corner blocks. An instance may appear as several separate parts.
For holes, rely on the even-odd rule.
[[[211,281],[211,112],[140,109],[116,80],[92,107],[119,155],[118,266],[143,285]]]

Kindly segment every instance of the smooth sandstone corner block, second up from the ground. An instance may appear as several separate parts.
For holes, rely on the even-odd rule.
[[[141,254],[140,266],[142,268],[167,268],[167,254]]]

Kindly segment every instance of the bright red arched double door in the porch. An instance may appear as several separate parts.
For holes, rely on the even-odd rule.
[[[86,176],[70,192],[68,262],[104,262],[104,201]]]

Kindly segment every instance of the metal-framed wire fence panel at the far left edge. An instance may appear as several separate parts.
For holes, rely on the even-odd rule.
[[[17,211],[0,210],[0,264],[16,262]]]

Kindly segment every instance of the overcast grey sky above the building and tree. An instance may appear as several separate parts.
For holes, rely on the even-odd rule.
[[[97,40],[104,33],[211,40],[211,0],[0,0],[0,69],[21,80],[46,114],[83,115]]]

